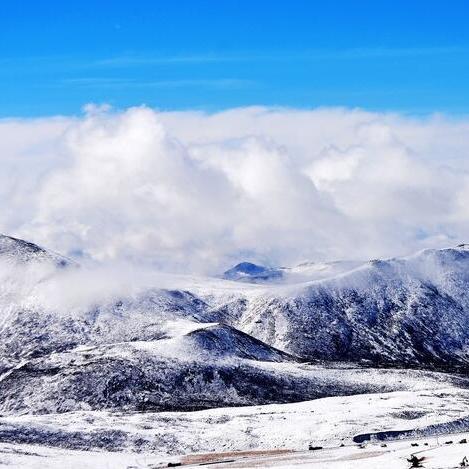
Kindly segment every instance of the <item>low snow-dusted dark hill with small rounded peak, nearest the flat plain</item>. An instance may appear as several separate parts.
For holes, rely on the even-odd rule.
[[[0,376],[0,412],[193,410],[453,385],[453,375],[301,364],[227,326],[158,340],[79,346]]]

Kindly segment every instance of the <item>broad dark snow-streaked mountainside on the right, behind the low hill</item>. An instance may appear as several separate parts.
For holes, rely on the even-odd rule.
[[[303,358],[466,369],[468,287],[469,250],[428,250],[247,298],[233,323]]]

